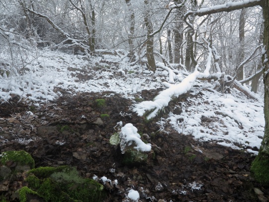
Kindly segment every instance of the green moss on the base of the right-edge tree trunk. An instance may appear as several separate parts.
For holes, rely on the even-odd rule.
[[[264,185],[269,185],[269,158],[258,155],[251,165],[254,178]]]

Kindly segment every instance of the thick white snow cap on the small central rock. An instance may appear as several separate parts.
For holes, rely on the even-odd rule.
[[[133,126],[133,124],[126,124],[121,132],[120,132],[120,138],[121,138],[121,150],[124,153],[126,145],[131,145],[133,141],[135,142],[136,146],[134,146],[135,149],[140,151],[150,151],[151,150],[151,144],[145,144],[141,139],[140,135],[137,133],[137,129]]]

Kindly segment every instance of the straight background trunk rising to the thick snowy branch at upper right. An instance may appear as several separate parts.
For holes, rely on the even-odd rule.
[[[237,75],[237,80],[242,80],[244,79],[244,66],[239,66],[240,63],[244,60],[245,58],[245,45],[244,45],[244,41],[245,41],[245,15],[246,15],[246,8],[243,8],[241,10],[240,13],[240,17],[239,17],[239,58],[237,60],[237,71],[236,71],[236,75]]]

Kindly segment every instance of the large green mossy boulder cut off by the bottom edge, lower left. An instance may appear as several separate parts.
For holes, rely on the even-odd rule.
[[[103,185],[79,176],[74,167],[40,167],[28,172],[28,187],[46,202],[101,202]]]

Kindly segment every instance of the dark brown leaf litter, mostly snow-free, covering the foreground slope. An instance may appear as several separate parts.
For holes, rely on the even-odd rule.
[[[167,129],[169,133],[163,132],[156,122],[145,122],[136,116],[129,108],[130,99],[107,96],[110,92],[75,96],[61,92],[63,96],[39,107],[18,102],[16,96],[0,105],[0,151],[25,150],[34,158],[36,167],[70,165],[86,178],[96,175],[99,179],[117,179],[117,186],[105,184],[105,202],[131,202],[126,198],[130,189],[139,192],[141,202],[269,199],[269,188],[251,176],[250,166],[255,158],[251,153],[215,143],[201,144],[192,135],[179,134],[172,128]],[[141,96],[152,100],[156,93],[157,89],[143,90]],[[95,100],[100,98],[106,100],[105,106],[96,106]],[[101,120],[101,114],[109,117]],[[138,133],[149,135],[152,151],[145,164],[123,164],[119,146],[109,143],[120,121],[124,125],[132,123]],[[10,197],[19,181],[8,182],[8,192],[1,193]],[[255,194],[254,188],[264,195]]]

